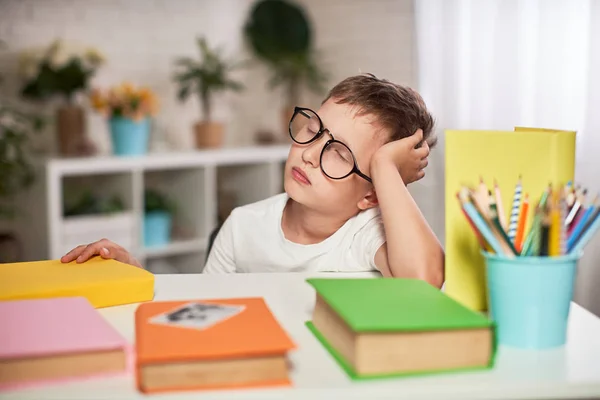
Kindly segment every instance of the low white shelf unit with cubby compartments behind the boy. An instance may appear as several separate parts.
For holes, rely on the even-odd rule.
[[[45,169],[47,258],[107,238],[155,273],[197,273],[204,267],[218,213],[283,191],[289,146],[257,146],[150,154],[141,157],[50,159]],[[158,189],[175,203],[172,241],[143,246],[144,191]],[[125,210],[63,216],[72,192],[117,195]],[[39,198],[38,198],[39,204]],[[44,229],[42,228],[42,229]],[[30,225],[29,229],[36,229]]]

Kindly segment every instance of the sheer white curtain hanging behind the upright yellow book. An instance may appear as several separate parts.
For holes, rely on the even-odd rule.
[[[576,180],[588,196],[600,191],[600,1],[416,0],[415,8],[419,91],[441,138],[429,171],[438,225],[444,129],[577,130]],[[575,295],[597,314],[599,287],[600,234],[586,247]]]

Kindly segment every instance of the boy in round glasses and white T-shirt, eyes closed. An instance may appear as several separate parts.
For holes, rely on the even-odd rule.
[[[442,247],[406,188],[424,176],[432,130],[418,93],[370,74],[340,82],[318,110],[296,107],[285,193],[234,209],[203,272],[378,270],[441,287]],[[106,240],[63,262],[96,254],[139,266]]]

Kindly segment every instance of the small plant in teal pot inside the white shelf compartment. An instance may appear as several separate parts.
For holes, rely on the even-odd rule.
[[[144,246],[163,246],[171,241],[175,205],[158,190],[144,193]]]

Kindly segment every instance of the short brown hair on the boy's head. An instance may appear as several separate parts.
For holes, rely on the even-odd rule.
[[[373,74],[361,74],[335,85],[323,103],[329,99],[338,104],[358,107],[357,115],[373,115],[390,132],[389,141],[412,136],[421,128],[423,140],[427,141],[429,147],[437,143],[433,117],[427,111],[421,95],[409,87],[379,79]]]

